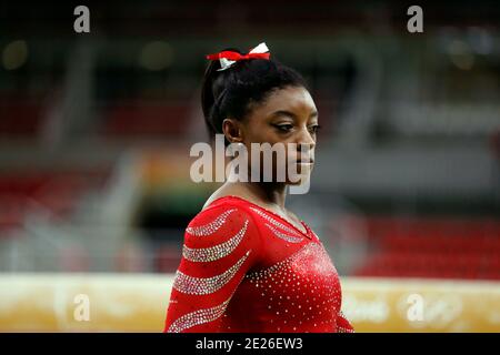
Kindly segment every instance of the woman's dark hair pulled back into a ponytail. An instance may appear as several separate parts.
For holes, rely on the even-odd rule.
[[[237,49],[226,49],[236,51]],[[242,120],[256,103],[262,103],[274,90],[286,87],[307,88],[306,80],[296,70],[271,58],[236,62],[222,71],[219,60],[212,60],[204,72],[201,108],[210,136],[222,133],[222,121]],[[224,140],[226,144],[229,142]]]

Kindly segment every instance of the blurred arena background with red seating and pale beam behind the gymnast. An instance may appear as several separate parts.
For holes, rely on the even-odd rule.
[[[358,332],[500,332],[500,8],[401,1],[0,4],[0,331],[160,332],[183,229],[217,185],[204,54],[301,71],[323,131],[289,207]],[[90,320],[78,321],[78,295]],[[419,316],[419,314],[421,316]]]

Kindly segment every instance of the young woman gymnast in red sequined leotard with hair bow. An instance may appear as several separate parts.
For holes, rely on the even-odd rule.
[[[302,77],[270,59],[264,43],[208,59],[201,104],[210,133],[249,152],[251,143],[284,144],[309,175],[319,125]],[[260,168],[249,160],[249,172]],[[211,195],[186,230],[166,332],[353,332],[330,257],[284,207],[292,181],[228,181]]]

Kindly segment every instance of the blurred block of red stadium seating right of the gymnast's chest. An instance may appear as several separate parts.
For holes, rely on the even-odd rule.
[[[367,224],[377,247],[356,275],[499,278],[500,222],[374,217]]]

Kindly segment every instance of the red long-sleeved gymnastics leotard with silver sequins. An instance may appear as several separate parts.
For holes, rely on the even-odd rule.
[[[164,332],[353,332],[318,236],[247,200],[213,201],[189,224]]]

